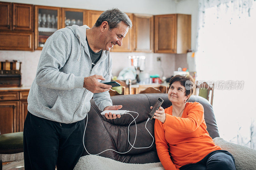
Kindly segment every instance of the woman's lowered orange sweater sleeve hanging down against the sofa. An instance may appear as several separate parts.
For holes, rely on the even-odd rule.
[[[155,120],[155,139],[157,155],[165,170],[176,170],[169,154],[168,142],[164,136],[164,128],[159,120]]]

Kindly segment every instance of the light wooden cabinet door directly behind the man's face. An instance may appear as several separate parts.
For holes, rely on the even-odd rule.
[[[133,14],[126,13],[133,23]],[[132,52],[133,51],[133,29],[129,29],[125,38],[123,39],[122,46],[115,45],[111,48],[112,52]]]

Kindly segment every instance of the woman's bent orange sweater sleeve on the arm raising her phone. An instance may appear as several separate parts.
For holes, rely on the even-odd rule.
[[[186,118],[166,114],[164,124],[184,133],[195,131],[204,120],[204,107],[202,104],[195,102],[188,109],[188,116]]]

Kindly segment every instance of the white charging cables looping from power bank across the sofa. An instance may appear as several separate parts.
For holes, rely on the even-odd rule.
[[[86,95],[85,95],[85,96],[86,96]],[[85,100],[84,100],[84,101],[85,101]],[[86,124],[85,124],[85,128],[84,128],[84,134],[85,134],[85,130],[86,130],[87,122],[88,122],[88,112],[87,112],[87,109],[86,109],[86,107],[85,107],[85,103],[84,103],[84,108],[85,108],[85,110],[86,110],[86,117],[87,117],[87,119],[86,119]],[[128,111],[128,110],[127,110],[126,113],[129,114],[129,115],[131,115],[131,114],[128,113],[128,112],[137,113],[137,112],[134,112],[134,111]],[[138,117],[138,116],[139,116],[139,113],[137,113],[137,114],[138,114],[138,115],[137,115],[137,117]],[[132,116],[132,115],[131,115],[131,116]],[[132,148],[135,148],[135,149],[149,148],[149,147],[151,147],[151,146],[153,145],[153,143],[154,143],[154,137],[151,135],[151,133],[148,131],[148,129],[147,129],[147,127],[146,127],[149,118],[148,118],[148,120],[147,120],[147,122],[146,122],[146,124],[145,124],[145,128],[147,129],[148,133],[149,133],[149,134],[152,136],[152,138],[153,138],[152,144],[151,144],[150,146],[148,146],[148,147],[142,147],[142,148],[136,148],[136,147],[134,147],[134,144],[135,144],[135,141],[136,141],[136,137],[137,137],[137,124],[136,124],[136,121],[135,121],[135,119],[137,119],[137,117],[134,118],[134,117],[132,116],[133,121],[135,122],[135,126],[136,126],[136,135],[135,135],[135,139],[134,139],[133,145],[132,145],[132,144],[130,143],[130,141],[129,141],[129,127],[130,127],[130,125],[132,124],[133,121],[132,121],[132,122],[129,124],[129,126],[128,126],[128,142],[129,142],[129,144],[132,146],[131,149],[132,149]],[[84,136],[83,136],[83,144],[84,144]],[[113,149],[107,149],[107,150],[102,151],[102,152],[100,152],[100,153],[98,153],[98,154],[91,154],[91,153],[89,153],[89,152],[86,150],[85,145],[84,145],[84,149],[85,149],[85,151],[86,151],[89,155],[99,155],[100,153],[103,153],[103,152],[105,152],[105,151],[115,151],[115,150],[113,150]],[[130,149],[129,151],[131,151],[131,149]],[[128,153],[129,151],[127,151],[127,152],[117,152],[117,151],[115,151],[115,152],[117,152],[117,153]]]

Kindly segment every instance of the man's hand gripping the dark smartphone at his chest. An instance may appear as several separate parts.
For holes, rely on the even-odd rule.
[[[100,83],[98,79],[105,80],[103,76],[96,74],[89,77],[84,77],[84,88],[92,93],[101,93],[108,91],[112,87],[111,85]]]

